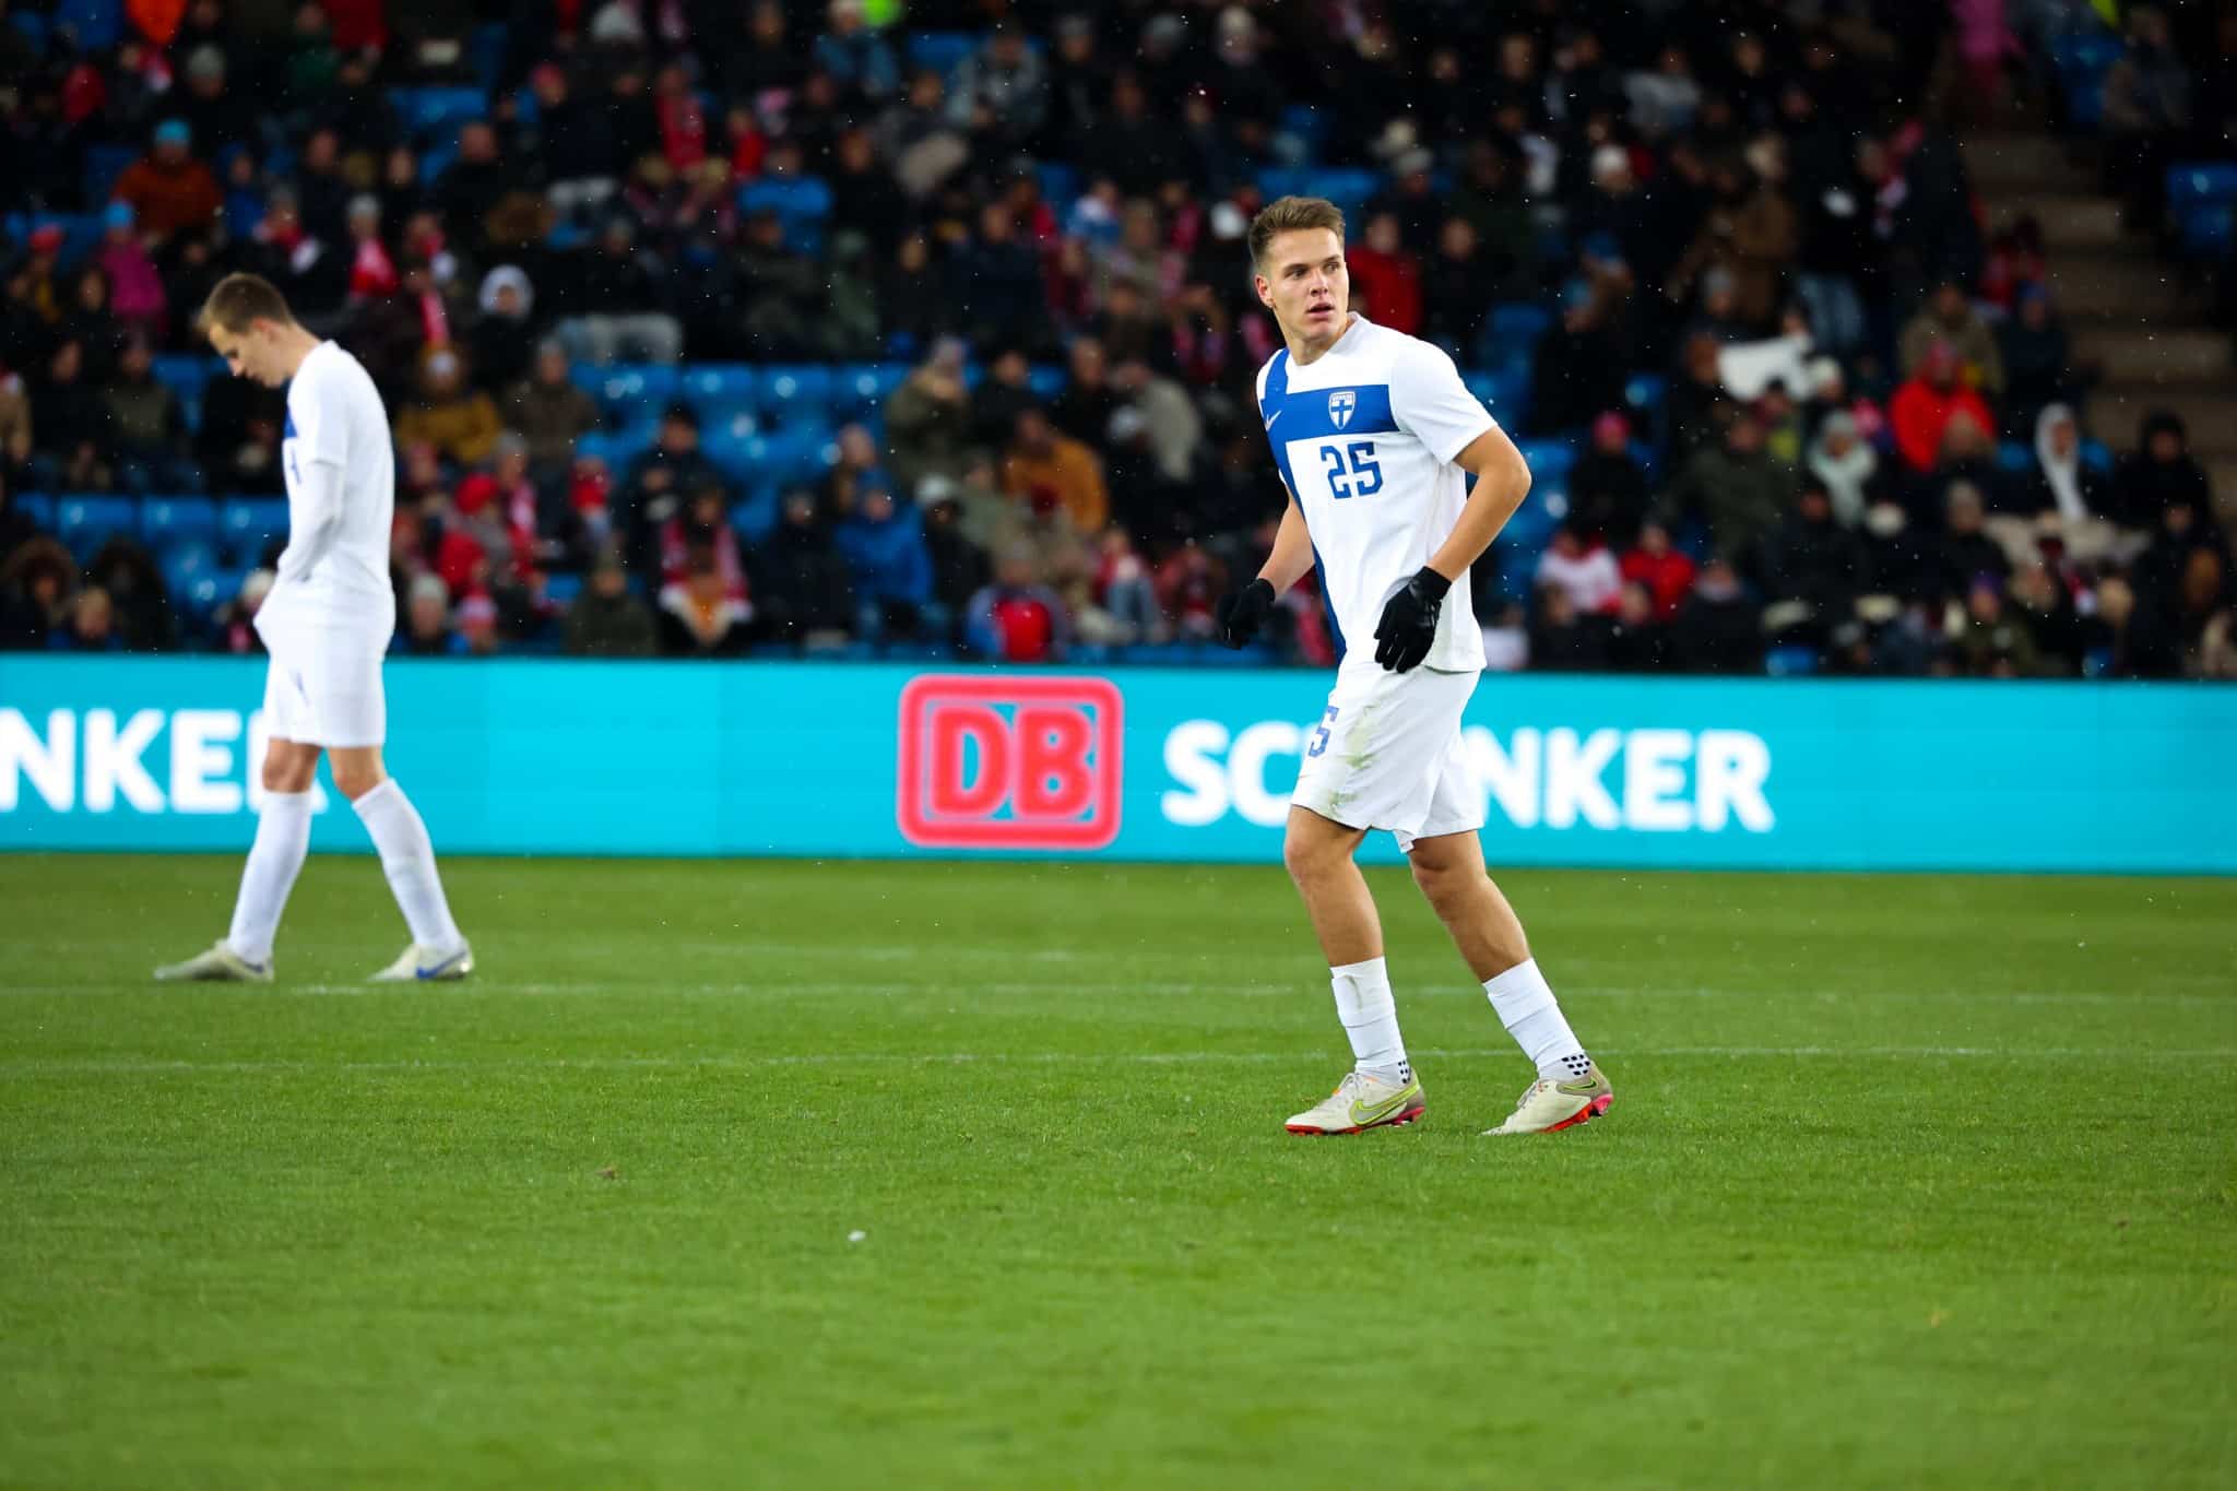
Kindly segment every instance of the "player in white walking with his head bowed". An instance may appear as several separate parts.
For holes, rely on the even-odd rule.
[[[201,957],[157,968],[154,977],[271,981],[280,912],[311,849],[311,782],[324,751],[333,785],[374,836],[380,870],[412,928],[412,946],[374,979],[463,979],[474,970],[474,952],[443,899],[427,825],[380,765],[387,738],[380,657],[396,630],[389,588],[396,463],[380,391],[356,358],[304,331],[280,291],[255,275],[221,279],[199,324],[237,378],[286,384],[280,458],[289,543],[255,621],[271,653],[264,673],[271,744],[233,928]]]

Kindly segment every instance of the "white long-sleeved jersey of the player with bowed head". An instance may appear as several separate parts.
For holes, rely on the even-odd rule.
[[[378,646],[385,646],[396,628],[389,414],[365,367],[333,342],[313,346],[289,382],[280,463],[286,469],[289,548],[280,557],[280,579],[257,610],[257,630],[266,637],[271,626],[378,630]],[[313,481],[313,465],[336,467],[340,481]],[[338,512],[320,492],[336,494]]]

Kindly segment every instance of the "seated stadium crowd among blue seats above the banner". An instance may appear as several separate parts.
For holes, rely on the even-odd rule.
[[[246,268],[396,416],[400,653],[1210,659],[1300,190],[1532,460],[1494,668],[2237,675],[2181,422],[2083,438],[1924,83],[2101,25],[2000,9],[0,0],[0,646],[257,646]],[[2145,181],[2237,47],[2125,47]],[[1333,657],[1311,583],[1271,648]]]

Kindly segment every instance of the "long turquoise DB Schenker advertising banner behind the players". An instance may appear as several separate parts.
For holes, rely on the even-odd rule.
[[[1273,861],[1329,682],[394,662],[387,760],[447,854]],[[0,657],[0,847],[246,847],[262,695]],[[1485,675],[1465,742],[1494,865],[2237,872],[2228,686]]]

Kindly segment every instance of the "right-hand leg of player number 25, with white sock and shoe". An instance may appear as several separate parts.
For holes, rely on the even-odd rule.
[[[1414,883],[1445,923],[1467,970],[1483,984],[1499,1024],[1539,1071],[1494,1133],[1546,1133],[1606,1113],[1615,1089],[1577,1042],[1552,986],[1530,957],[1521,919],[1483,867],[1476,829],[1416,838],[1407,849]]]

